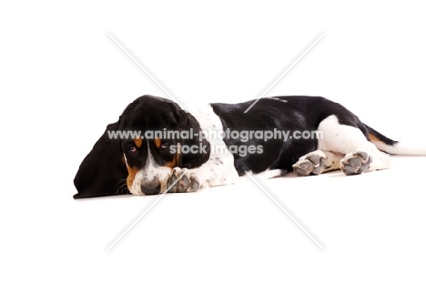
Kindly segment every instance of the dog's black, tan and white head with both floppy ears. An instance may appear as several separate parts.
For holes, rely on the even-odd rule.
[[[117,123],[106,126],[83,160],[74,179],[74,198],[165,192],[174,167],[199,167],[208,160],[208,141],[187,135],[200,130],[197,119],[176,103],[155,96],[137,98]],[[183,146],[205,150],[182,151]]]

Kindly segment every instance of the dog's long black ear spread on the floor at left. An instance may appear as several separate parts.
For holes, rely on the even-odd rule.
[[[74,185],[74,198],[106,197],[127,194],[127,168],[119,139],[110,139],[107,131],[118,130],[119,121],[106,126],[106,131],[81,163]]]

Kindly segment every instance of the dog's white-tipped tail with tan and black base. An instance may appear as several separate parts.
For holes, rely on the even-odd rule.
[[[381,135],[378,131],[364,124],[368,130],[370,142],[373,143],[381,151],[391,155],[401,156],[426,156],[426,147],[408,145],[401,143],[387,136]]]

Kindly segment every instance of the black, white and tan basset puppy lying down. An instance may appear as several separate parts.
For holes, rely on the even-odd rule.
[[[74,198],[193,192],[236,183],[246,172],[355,175],[389,168],[388,154],[426,154],[323,97],[262,98],[245,113],[252,103],[187,112],[164,98],[137,98],[83,160]]]

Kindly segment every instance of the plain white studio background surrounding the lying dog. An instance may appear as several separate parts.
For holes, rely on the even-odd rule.
[[[11,1],[9,3],[12,3]],[[421,1],[55,1],[0,5],[0,280],[424,282],[425,157],[344,177],[247,177],[154,197],[76,201],[76,170],[128,103],[326,96],[398,140],[423,143]]]

